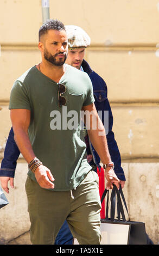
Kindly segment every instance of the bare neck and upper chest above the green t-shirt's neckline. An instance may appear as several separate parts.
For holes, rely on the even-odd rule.
[[[65,74],[66,67],[63,64],[62,66],[55,66],[53,64],[49,64],[48,62],[42,61],[39,65],[36,66],[39,71],[54,80],[56,83],[60,81],[60,78]]]

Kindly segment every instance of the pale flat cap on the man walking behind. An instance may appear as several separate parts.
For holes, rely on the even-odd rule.
[[[80,27],[74,25],[67,25],[66,34],[68,37],[68,48],[87,47],[91,44],[91,38]]]

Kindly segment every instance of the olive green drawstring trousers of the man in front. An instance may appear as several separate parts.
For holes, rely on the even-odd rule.
[[[88,172],[72,191],[47,190],[28,176],[26,193],[34,245],[53,245],[65,220],[80,245],[100,245],[101,203],[96,172]]]

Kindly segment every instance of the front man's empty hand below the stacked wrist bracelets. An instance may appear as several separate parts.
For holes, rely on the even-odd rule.
[[[54,177],[50,170],[46,166],[39,166],[36,168],[35,172],[35,178],[39,185],[43,188],[54,188],[54,184],[52,181],[54,181]]]

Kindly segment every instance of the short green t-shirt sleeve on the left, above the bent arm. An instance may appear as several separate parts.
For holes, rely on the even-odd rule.
[[[21,81],[16,81],[11,89],[9,109],[29,109],[31,110],[27,88]]]

